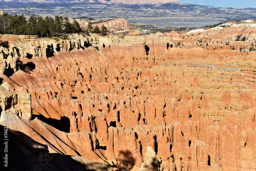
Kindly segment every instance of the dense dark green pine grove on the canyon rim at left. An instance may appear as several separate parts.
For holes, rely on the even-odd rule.
[[[51,37],[62,33],[80,33],[82,29],[74,20],[69,22],[67,17],[55,16],[42,18],[32,15],[28,20],[24,15],[0,15],[0,34],[38,35]]]

